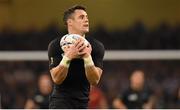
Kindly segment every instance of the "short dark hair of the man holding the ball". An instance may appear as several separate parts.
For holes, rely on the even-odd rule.
[[[74,5],[70,8],[68,8],[66,11],[64,11],[63,21],[64,24],[67,25],[67,20],[70,18],[70,16],[74,13],[75,10],[84,10],[86,11],[86,8],[81,5]]]

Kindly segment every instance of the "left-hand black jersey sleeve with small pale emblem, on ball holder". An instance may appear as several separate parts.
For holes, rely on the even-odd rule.
[[[48,59],[50,70],[56,67],[62,59],[62,50],[57,40],[52,41],[48,46]]]

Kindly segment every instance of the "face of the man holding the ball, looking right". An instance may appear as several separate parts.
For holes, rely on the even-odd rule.
[[[69,20],[69,26],[71,26],[76,33],[85,34],[89,32],[89,20],[84,10],[75,10],[72,18]]]

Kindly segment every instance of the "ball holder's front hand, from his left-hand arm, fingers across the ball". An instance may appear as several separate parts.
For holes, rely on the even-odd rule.
[[[70,60],[74,58],[79,58],[81,56],[80,51],[82,51],[86,45],[84,44],[84,40],[78,39],[74,45],[69,45],[64,49],[64,55],[68,57]]]

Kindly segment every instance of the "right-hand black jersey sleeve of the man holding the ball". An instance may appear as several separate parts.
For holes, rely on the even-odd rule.
[[[93,48],[93,61],[95,66],[99,68],[103,68],[103,58],[104,58],[104,45],[101,42],[97,42],[97,44]]]

